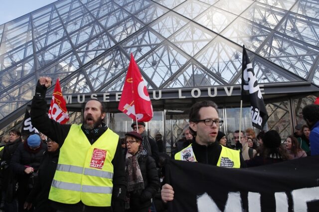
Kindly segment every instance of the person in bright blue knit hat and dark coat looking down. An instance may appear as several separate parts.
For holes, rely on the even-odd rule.
[[[24,202],[35,185],[37,171],[41,164],[46,144],[41,142],[38,134],[32,134],[27,138],[27,142],[19,144],[16,148],[10,166],[18,178],[18,211],[24,210]]]

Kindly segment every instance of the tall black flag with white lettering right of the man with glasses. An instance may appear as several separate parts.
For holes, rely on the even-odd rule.
[[[268,113],[245,46],[242,63],[241,98],[243,101],[250,102],[253,126],[263,129],[268,120]]]

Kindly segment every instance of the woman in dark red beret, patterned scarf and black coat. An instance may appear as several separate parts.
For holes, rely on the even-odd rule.
[[[155,160],[143,154],[142,136],[133,131],[125,134],[126,177],[128,182],[126,212],[148,212],[152,198],[160,188]]]

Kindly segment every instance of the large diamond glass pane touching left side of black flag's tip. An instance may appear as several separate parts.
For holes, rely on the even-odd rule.
[[[212,74],[229,83],[234,79],[241,67],[242,48],[216,37],[195,59],[206,66]]]

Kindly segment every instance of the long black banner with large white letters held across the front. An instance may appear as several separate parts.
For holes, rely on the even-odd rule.
[[[170,160],[168,212],[318,212],[319,155],[251,168]]]

